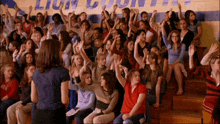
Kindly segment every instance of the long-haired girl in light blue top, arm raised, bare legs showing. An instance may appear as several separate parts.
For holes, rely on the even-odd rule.
[[[168,50],[168,63],[169,63],[169,69],[167,72],[167,82],[170,81],[172,71],[174,70],[175,77],[178,83],[178,91],[176,95],[182,95],[183,75],[181,71],[184,72],[185,70],[182,63],[183,63],[183,55],[186,49],[186,45],[180,42],[180,33],[177,30],[171,31],[167,38],[164,25],[165,22],[163,21],[161,24],[162,38]]]

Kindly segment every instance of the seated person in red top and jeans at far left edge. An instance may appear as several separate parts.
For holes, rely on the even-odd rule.
[[[0,82],[0,123],[6,115],[7,108],[19,100],[18,86],[19,83],[14,77],[14,69],[7,64],[2,69],[4,77]]]

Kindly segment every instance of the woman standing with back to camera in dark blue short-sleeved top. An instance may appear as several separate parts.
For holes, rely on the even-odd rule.
[[[60,64],[59,53],[60,43],[56,40],[45,40],[40,48],[31,83],[31,100],[37,103],[33,124],[66,123],[70,77]]]

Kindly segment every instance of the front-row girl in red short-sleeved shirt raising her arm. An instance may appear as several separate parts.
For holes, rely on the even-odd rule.
[[[132,69],[127,76],[127,80],[124,79],[120,73],[119,57],[115,57],[116,65],[116,77],[120,84],[125,89],[124,102],[121,109],[121,114],[116,117],[114,124],[123,123],[139,123],[139,120],[144,118],[146,112],[146,96],[147,88],[140,83],[139,71]]]

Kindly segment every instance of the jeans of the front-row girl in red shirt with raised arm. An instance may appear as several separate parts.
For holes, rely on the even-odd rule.
[[[140,124],[140,119],[144,118],[144,113],[142,113],[142,114],[133,115],[132,117],[123,121],[122,119],[123,114],[124,113],[118,115],[118,117],[116,117],[115,120],[113,121],[113,124]]]

